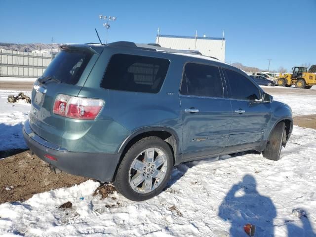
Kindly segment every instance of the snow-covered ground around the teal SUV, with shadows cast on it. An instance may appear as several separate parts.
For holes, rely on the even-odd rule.
[[[27,117],[29,105],[5,103],[7,95],[15,93],[0,91],[0,126],[7,124],[1,138],[11,133],[10,125]],[[307,110],[316,114],[310,99],[301,110],[300,95],[274,97],[289,103],[295,115]],[[12,142],[23,143],[18,139]],[[245,237],[243,225],[251,223],[257,237],[315,237],[315,144],[315,129],[294,126],[279,161],[243,153],[180,164],[169,187],[143,202],[118,193],[100,200],[92,196],[99,183],[89,180],[24,202],[3,203],[0,235]],[[58,208],[67,201],[73,203],[71,209]],[[307,217],[293,216],[294,208],[304,209]]]

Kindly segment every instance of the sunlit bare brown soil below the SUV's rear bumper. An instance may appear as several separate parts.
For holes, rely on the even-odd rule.
[[[70,187],[88,180],[67,173],[55,174],[30,151],[0,159],[0,203],[25,200],[34,194]],[[7,188],[11,187],[13,188]],[[7,189],[6,189],[7,188]]]

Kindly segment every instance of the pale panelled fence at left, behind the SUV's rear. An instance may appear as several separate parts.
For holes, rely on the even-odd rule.
[[[0,49],[0,77],[37,78],[52,60],[51,54]]]

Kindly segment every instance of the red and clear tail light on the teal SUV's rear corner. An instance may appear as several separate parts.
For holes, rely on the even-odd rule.
[[[104,101],[100,99],[72,97],[60,94],[55,99],[53,113],[67,118],[95,119],[103,105]]]

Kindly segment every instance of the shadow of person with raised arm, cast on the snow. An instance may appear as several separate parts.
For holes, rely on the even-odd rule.
[[[242,182],[234,184],[219,207],[219,217],[231,222],[230,236],[246,236],[243,226],[247,223],[256,226],[257,237],[273,237],[273,220],[276,207],[269,197],[260,195],[256,180],[245,175]]]

